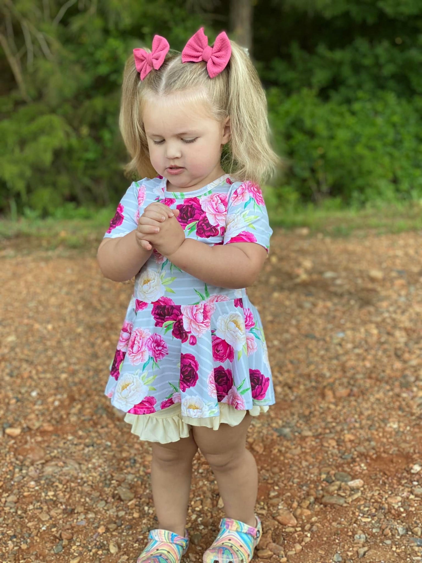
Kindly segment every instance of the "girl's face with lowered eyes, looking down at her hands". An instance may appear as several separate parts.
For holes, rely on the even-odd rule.
[[[142,117],[151,164],[169,185],[199,189],[224,173],[220,157],[230,138],[228,118],[218,122],[205,102],[181,92],[158,96],[145,102]]]

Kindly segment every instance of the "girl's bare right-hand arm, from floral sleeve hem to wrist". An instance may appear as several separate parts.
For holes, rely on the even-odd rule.
[[[267,251],[256,243],[209,246],[199,240],[185,239],[175,252],[166,257],[175,266],[205,283],[240,289],[255,282],[267,258]]]

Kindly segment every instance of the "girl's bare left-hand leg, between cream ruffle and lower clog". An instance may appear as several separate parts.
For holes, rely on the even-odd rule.
[[[151,485],[159,528],[185,535],[197,445],[192,437],[169,444],[152,443]]]

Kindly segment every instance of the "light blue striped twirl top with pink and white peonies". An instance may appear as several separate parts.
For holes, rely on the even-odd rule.
[[[160,176],[133,182],[106,237],[137,228],[152,202],[179,209],[186,237],[204,244],[253,242],[267,249],[272,229],[261,189],[228,175],[188,193]],[[150,414],[181,403],[182,415],[213,417],[275,403],[261,319],[246,289],[207,285],[155,249],[135,276],[105,394],[124,412]]]

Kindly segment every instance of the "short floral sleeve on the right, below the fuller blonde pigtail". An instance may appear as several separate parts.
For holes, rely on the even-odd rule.
[[[268,252],[272,232],[261,188],[250,181],[233,184],[228,195],[223,244],[257,243]]]

